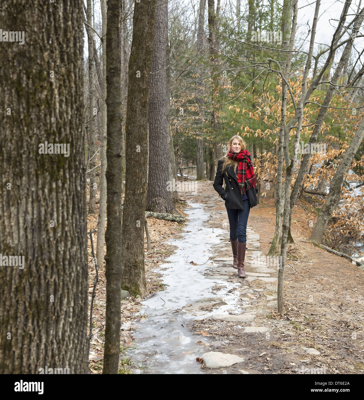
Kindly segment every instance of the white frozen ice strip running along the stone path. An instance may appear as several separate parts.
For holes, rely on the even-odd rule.
[[[167,268],[160,272],[163,283],[168,285],[166,290],[149,296],[142,302],[141,314],[147,318],[132,324],[124,324],[123,328],[132,326],[136,348],[128,351],[134,364],[140,368],[132,368],[134,373],[151,374],[201,374],[201,364],[196,357],[208,351],[208,346],[196,344],[202,336],[192,335],[185,328],[184,322],[188,319],[202,319],[212,314],[240,314],[243,310],[236,305],[238,296],[226,293],[240,284],[232,284],[224,280],[206,279],[203,275],[206,269],[216,266],[208,260],[212,254],[212,243],[221,243],[218,235],[226,234],[226,230],[205,228],[203,221],[208,219],[202,204],[188,202],[186,209],[188,222],[184,227],[183,238],[171,240],[168,243],[178,246],[176,253],[170,256],[166,264],[160,268]],[[208,244],[209,243],[209,244]],[[195,262],[202,265],[192,265]],[[213,294],[211,288],[216,284],[226,286],[218,294]],[[215,308],[213,312],[175,312],[176,309],[194,303],[206,297],[221,297],[226,305]]]

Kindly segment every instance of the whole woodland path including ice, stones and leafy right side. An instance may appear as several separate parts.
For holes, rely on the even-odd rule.
[[[196,193],[181,197],[189,204],[185,233],[172,242],[178,245],[166,260],[172,264],[158,270],[167,289],[144,300],[148,317],[133,324],[136,353],[130,355],[143,364],[134,372],[362,372],[362,271],[298,241],[296,250],[289,249],[282,317],[276,300],[279,258],[266,259],[274,204],[261,202],[250,210],[247,278],[241,279],[232,268],[226,208],[212,182],[198,182]],[[295,213],[292,221],[300,218]],[[336,268],[322,268],[325,262]]]

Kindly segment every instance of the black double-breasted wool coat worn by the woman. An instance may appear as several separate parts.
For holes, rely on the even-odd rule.
[[[218,192],[219,196],[225,200],[226,208],[235,208],[238,210],[243,210],[243,196],[240,192],[240,186],[238,182],[238,177],[236,176],[234,166],[226,168],[224,174],[222,173],[222,163],[224,160],[218,160],[217,170],[214,180],[214,189]],[[225,189],[222,187],[225,181]],[[257,198],[256,194],[258,192],[257,188],[249,188],[247,190],[248,200],[250,208],[256,206]]]

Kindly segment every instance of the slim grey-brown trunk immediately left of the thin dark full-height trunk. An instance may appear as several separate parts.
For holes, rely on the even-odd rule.
[[[101,172],[100,203],[97,225],[96,260],[100,271],[104,270],[105,212],[106,212],[106,145],[107,145],[107,109],[106,109],[106,0],[101,0],[102,16],[102,98],[101,98]]]

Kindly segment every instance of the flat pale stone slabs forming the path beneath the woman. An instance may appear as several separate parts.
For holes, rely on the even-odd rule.
[[[206,184],[206,183],[203,183]],[[212,185],[212,184],[211,184]],[[189,312],[200,318],[210,318],[215,321],[236,322],[241,335],[256,334],[265,335],[269,338],[272,329],[287,329],[288,321],[270,318],[259,318],[259,324],[255,323],[258,316],[268,316],[277,308],[277,282],[279,258],[267,258],[262,254],[260,248],[260,236],[254,231],[251,224],[247,227],[247,247],[245,256],[245,279],[238,278],[238,272],[232,268],[233,257],[229,242],[229,223],[224,203],[218,196],[209,193],[187,194],[184,196],[192,202],[203,204],[204,211],[210,214],[205,226],[221,228],[227,232],[219,235],[221,243],[208,243],[208,251],[212,252],[210,261],[212,265],[206,264],[206,279],[215,280],[217,291],[224,287],[225,282],[233,283],[236,293],[235,308],[229,309],[227,299],[224,296],[200,298],[195,302],[188,303],[182,312]],[[197,198],[196,198],[197,197]],[[249,222],[249,221],[248,221]],[[230,290],[231,291],[231,290]],[[263,322],[262,322],[263,321]],[[241,326],[240,326],[241,327]],[[218,326],[207,325],[207,332],[213,332]],[[285,331],[287,335],[292,332]],[[242,349],[244,350],[244,349]],[[317,354],[312,348],[294,348],[298,354]],[[293,351],[292,350],[292,351]],[[233,364],[244,362],[244,358],[235,354],[222,352],[206,352],[202,354],[203,363],[208,368],[222,368]],[[239,370],[242,374],[261,373],[256,370]]]

